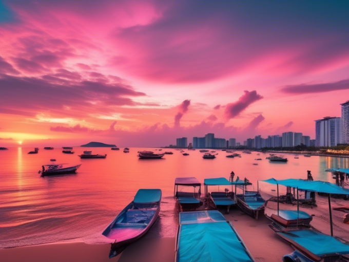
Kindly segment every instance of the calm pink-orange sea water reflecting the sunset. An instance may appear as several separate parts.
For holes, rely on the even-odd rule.
[[[216,159],[203,159],[199,150],[183,156],[179,151],[163,149],[174,154],[159,160],[139,160],[137,152],[147,148],[130,148],[130,153],[125,154],[123,148],[112,151],[75,147],[73,155],[63,154],[62,148],[40,148],[38,154],[28,155],[32,149],[0,151],[0,248],[72,239],[89,244],[110,242],[101,232],[140,188],[162,190],[160,219],[149,234],[174,237],[178,224],[178,209],[173,199],[176,177],[196,177],[203,183],[204,178],[228,179],[234,171],[241,179],[247,177],[257,190],[257,180],[305,179],[307,170],[312,171],[314,179],[333,182],[325,169],[349,168],[348,158],[300,155],[294,159],[293,155],[287,155],[287,163],[269,163],[265,159],[268,154],[257,155],[257,152],[241,153],[242,158],[226,158],[226,152],[217,151]],[[78,155],[86,149],[91,149],[93,154],[107,154],[107,158],[81,160]],[[82,166],[73,175],[41,177],[37,172],[51,158],[56,163]],[[255,161],[255,158],[263,160]],[[253,165],[255,162],[258,165]],[[260,183],[260,188],[274,194],[266,183]],[[224,190],[223,186],[220,190]],[[284,194],[283,191],[280,193]],[[319,208],[328,213],[326,205]]]

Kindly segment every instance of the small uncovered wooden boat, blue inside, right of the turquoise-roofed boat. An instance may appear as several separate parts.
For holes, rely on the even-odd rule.
[[[260,213],[264,214],[265,200],[256,191],[245,191],[244,194],[237,194],[238,207],[251,217],[258,219]]]

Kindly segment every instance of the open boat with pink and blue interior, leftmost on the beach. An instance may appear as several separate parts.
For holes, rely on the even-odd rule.
[[[161,190],[140,189],[129,203],[103,231],[114,239],[109,258],[119,255],[128,245],[144,236],[160,212]]]

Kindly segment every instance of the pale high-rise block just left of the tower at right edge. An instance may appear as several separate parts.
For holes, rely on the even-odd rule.
[[[342,141],[342,122],[340,117],[325,117],[315,120],[316,146],[336,146]]]

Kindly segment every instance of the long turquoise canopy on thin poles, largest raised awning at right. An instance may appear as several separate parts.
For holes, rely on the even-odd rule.
[[[339,194],[339,195],[349,195],[349,190],[343,189],[338,185],[324,181],[306,181],[303,179],[284,179],[277,180],[275,178],[270,178],[267,180],[262,180],[270,184],[281,184],[284,186],[290,186],[292,188],[298,188],[301,190],[315,191],[327,194]]]

